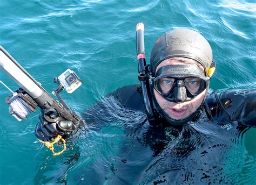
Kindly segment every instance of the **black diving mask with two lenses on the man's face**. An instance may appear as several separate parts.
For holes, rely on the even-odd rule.
[[[187,102],[202,93],[210,81],[197,65],[170,65],[161,67],[156,77],[150,77],[151,86],[167,101]]]

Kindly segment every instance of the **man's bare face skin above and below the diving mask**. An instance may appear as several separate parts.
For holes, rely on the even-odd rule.
[[[169,66],[169,65],[197,65],[197,64],[191,63],[191,62],[180,62],[177,59],[166,59],[157,66],[156,72],[160,67]],[[203,66],[200,66],[200,67],[204,69]],[[200,93],[199,95],[197,95],[191,101],[188,101],[188,102],[174,103],[174,102],[167,101],[163,96],[161,96],[154,89],[154,96],[156,97],[156,100],[160,108],[164,110],[165,113],[167,113],[167,115],[174,120],[187,118],[193,112],[195,112],[203,102],[205,93],[206,93],[206,90],[204,90],[202,93]]]

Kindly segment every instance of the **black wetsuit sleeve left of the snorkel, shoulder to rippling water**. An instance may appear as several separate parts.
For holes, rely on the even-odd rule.
[[[82,113],[89,130],[99,130],[124,117],[131,109],[144,112],[143,97],[137,84],[125,86],[107,94],[95,105]],[[112,120],[114,119],[114,120]]]

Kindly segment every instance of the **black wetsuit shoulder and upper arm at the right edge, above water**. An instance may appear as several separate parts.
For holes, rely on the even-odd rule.
[[[228,90],[206,98],[211,117],[225,117],[244,126],[256,127],[256,89]]]

